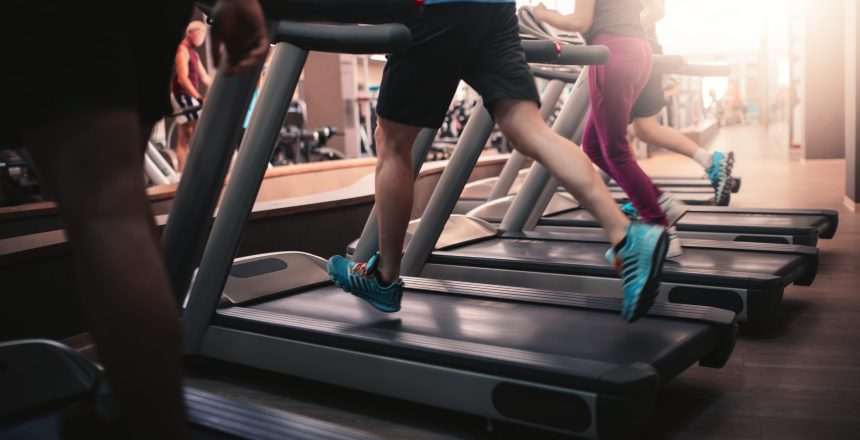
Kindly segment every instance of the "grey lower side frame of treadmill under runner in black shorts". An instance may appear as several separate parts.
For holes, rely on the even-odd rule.
[[[227,362],[592,439],[604,437],[598,432],[595,420],[627,420],[637,413],[650,415],[659,382],[655,380],[647,391],[630,396],[630,405],[610,405],[600,408],[605,411],[601,413],[597,404],[599,394],[594,392],[256,335],[223,325],[209,327],[202,351],[209,357]],[[267,353],[267,356],[259,353]],[[567,414],[567,420],[529,421],[517,418],[516,414],[514,417],[506,416],[499,408],[504,408],[506,403],[494,399],[495,390],[503,384],[522,386],[535,393],[544,391],[563,396],[567,407],[578,410]],[[627,436],[617,438],[630,438],[643,428],[644,424],[631,423],[625,429]]]

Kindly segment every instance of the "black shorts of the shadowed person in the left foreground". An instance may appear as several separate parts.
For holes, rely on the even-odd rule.
[[[170,77],[190,0],[12,0],[4,6],[16,26],[0,30],[6,60],[0,96],[12,116],[0,123],[3,144],[19,142],[22,127],[73,112],[128,109],[154,123],[171,111]]]

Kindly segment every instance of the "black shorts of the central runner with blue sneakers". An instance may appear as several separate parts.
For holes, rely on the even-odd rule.
[[[443,3],[409,23],[412,46],[389,55],[376,111],[390,121],[438,128],[466,81],[492,113],[498,99],[539,102],[520,45],[514,3]]]

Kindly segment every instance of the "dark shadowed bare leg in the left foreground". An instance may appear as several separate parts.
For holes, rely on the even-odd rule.
[[[132,111],[90,111],[25,130],[75,254],[99,358],[138,438],[188,438],[179,315],[143,187]]]

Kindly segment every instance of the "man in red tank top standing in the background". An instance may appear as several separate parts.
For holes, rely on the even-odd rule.
[[[176,121],[179,124],[176,139],[176,171],[185,169],[188,160],[188,145],[197,120],[200,118],[200,106],[203,104],[203,93],[200,84],[206,87],[212,85],[212,77],[206,72],[197,48],[206,41],[206,25],[200,20],[192,20],[185,28],[185,38],[176,48],[176,71],[170,80],[170,103],[173,114],[179,114]]]

